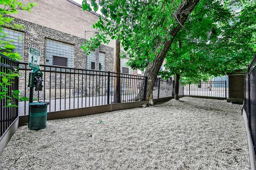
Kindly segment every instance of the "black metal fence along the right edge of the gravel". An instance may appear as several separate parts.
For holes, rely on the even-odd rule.
[[[244,80],[244,109],[248,118],[249,129],[251,132],[252,143],[256,146],[256,56],[254,56]]]

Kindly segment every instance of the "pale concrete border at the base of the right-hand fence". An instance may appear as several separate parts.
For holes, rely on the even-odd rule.
[[[256,169],[255,152],[254,152],[254,147],[253,147],[253,143],[252,143],[251,133],[250,133],[250,130],[249,130],[248,118],[247,118],[247,114],[246,114],[244,108],[243,108],[242,114],[243,114],[243,118],[244,118],[245,132],[246,132],[246,135],[247,135],[251,170],[255,170]]]

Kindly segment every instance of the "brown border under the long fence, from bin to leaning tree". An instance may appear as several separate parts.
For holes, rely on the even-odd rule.
[[[71,118],[71,117],[86,116],[86,115],[92,115],[92,114],[98,114],[98,113],[104,113],[104,112],[118,111],[122,109],[141,107],[142,104],[148,104],[148,101],[135,101],[131,103],[118,103],[118,104],[111,104],[111,105],[75,108],[75,109],[70,109],[66,111],[51,112],[47,114],[47,120],[56,120],[60,118]],[[27,123],[28,123],[28,115],[19,116],[19,126],[23,126]]]

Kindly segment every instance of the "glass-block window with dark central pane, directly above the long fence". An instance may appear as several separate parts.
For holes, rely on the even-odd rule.
[[[73,67],[74,45],[46,39],[46,65]]]

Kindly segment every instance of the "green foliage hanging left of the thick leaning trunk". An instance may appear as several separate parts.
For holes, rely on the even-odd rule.
[[[153,61],[156,54],[163,48],[164,41],[172,38],[170,30],[178,25],[173,13],[184,1],[105,0],[95,2],[95,0],[83,1],[83,10],[91,11],[91,6],[94,11],[101,8],[104,16],[93,25],[93,28],[105,35],[102,38],[118,37],[126,54],[134,60],[131,65],[143,69],[146,67],[144,62]],[[91,38],[83,48],[86,52],[88,49],[90,51],[99,46],[103,40]]]

